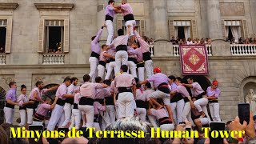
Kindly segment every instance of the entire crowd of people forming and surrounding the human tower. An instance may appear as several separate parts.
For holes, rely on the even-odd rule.
[[[106,6],[106,22],[91,38],[90,74],[85,74],[81,85],[78,78],[64,78],[59,86],[44,88],[38,81],[26,95],[26,86],[21,86],[22,94],[17,98],[17,84],[10,82],[4,107],[5,122],[0,130],[7,130],[14,121],[14,107],[19,106],[21,122],[18,126],[43,125],[46,130],[68,128],[84,130],[86,143],[207,143],[207,138],[88,138],[86,128],[96,130],[144,130],[150,127],[160,130],[198,130],[203,134],[203,126],[210,122],[221,122],[219,116],[218,81],[212,82],[206,91],[194,78],[182,78],[162,73],[158,67],[153,69],[149,43],[135,30],[133,10],[126,0],[121,6],[114,6],[110,0]],[[118,37],[113,38],[114,14],[122,13],[126,21],[127,34],[118,30]],[[104,27],[108,30],[106,44],[99,46],[99,38]],[[210,38],[208,38],[208,42]],[[188,42],[191,42],[190,39]],[[145,74],[146,72],[146,78]],[[80,80],[81,81],[81,80]],[[42,98],[43,94],[56,90],[54,98]],[[190,91],[190,92],[189,92]],[[209,105],[210,115],[206,106]],[[46,115],[51,111],[49,121]],[[252,116],[251,116],[252,119]],[[254,120],[248,126],[241,125],[239,119],[230,122],[230,130],[246,130],[246,135],[255,137]],[[185,124],[184,124],[185,123]],[[253,127],[252,127],[253,126]],[[1,133],[0,133],[1,134]],[[10,134],[10,133],[9,133]],[[7,133],[8,135],[8,133]],[[2,136],[3,138],[6,138]],[[10,137],[10,135],[9,135]],[[8,138],[8,136],[7,136]],[[87,139],[86,139],[87,138]],[[2,138],[1,138],[2,140]],[[11,142],[13,139],[9,139]],[[238,139],[231,139],[233,141]],[[230,140],[230,141],[231,141]],[[58,139],[47,138],[53,142]],[[66,138],[63,143],[72,140]],[[225,139],[225,142],[229,141]],[[233,142],[232,141],[232,142]],[[7,140],[6,140],[7,142]],[[78,143],[78,142],[72,142]]]

